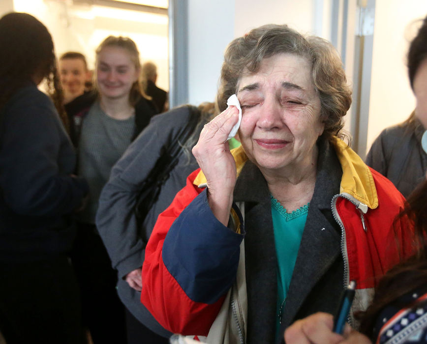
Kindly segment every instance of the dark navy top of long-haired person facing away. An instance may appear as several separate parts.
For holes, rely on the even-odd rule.
[[[30,85],[1,110],[0,260],[34,260],[67,252],[70,214],[88,193],[73,177],[76,157],[47,95]]]

